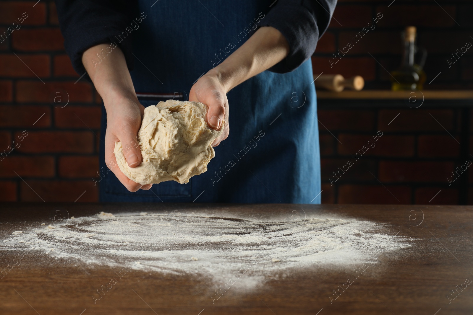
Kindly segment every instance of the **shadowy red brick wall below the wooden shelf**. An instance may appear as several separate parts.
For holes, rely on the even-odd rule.
[[[326,127],[320,126],[323,203],[458,204],[462,194],[464,199],[472,195],[467,190],[468,179],[473,187],[472,168],[451,186],[447,181],[466,161],[460,145],[462,108],[383,109],[380,102],[380,108],[340,110],[330,109],[329,101],[320,103],[318,118]],[[473,116],[470,126],[471,121]],[[383,136],[371,142],[373,148],[361,151],[358,160],[352,156],[378,130]],[[469,134],[470,143],[463,145],[473,154],[472,130]],[[349,160],[353,166],[339,173]]]

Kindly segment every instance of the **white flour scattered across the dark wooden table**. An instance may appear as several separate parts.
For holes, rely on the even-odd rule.
[[[375,253],[411,247],[415,240],[388,235],[387,230],[386,224],[329,214],[294,222],[241,219],[229,213],[196,212],[183,218],[175,213],[101,212],[73,223],[31,228],[0,248],[27,247],[88,268],[131,263],[133,269],[202,275],[216,282],[251,265],[245,276],[258,282],[307,267],[372,262]],[[27,243],[21,247],[18,241]]]

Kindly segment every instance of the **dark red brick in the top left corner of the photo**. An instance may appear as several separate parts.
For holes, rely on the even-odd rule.
[[[18,30],[24,25],[44,25],[46,23],[46,5],[41,2],[34,5],[35,1],[0,2],[0,24],[12,25],[13,22],[16,22],[20,25]],[[23,15],[25,12],[27,15]],[[18,18],[20,19],[18,20]]]

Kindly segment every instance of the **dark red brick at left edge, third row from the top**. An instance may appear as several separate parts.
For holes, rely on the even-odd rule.
[[[2,77],[49,77],[48,55],[0,55],[0,76]]]

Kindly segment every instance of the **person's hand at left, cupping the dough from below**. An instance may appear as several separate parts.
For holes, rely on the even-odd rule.
[[[105,163],[118,180],[131,192],[138,189],[148,190],[152,184],[141,185],[123,174],[115,159],[115,141],[121,141],[123,155],[130,167],[141,163],[141,149],[136,136],[140,130],[144,107],[136,96],[116,95],[104,100],[107,111],[107,129],[105,132]]]

